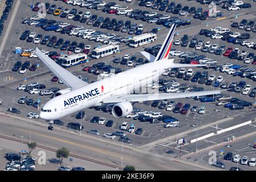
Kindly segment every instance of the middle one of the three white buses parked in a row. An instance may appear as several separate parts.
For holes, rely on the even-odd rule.
[[[92,57],[98,59],[100,57],[112,55],[117,52],[119,52],[118,45],[106,45],[106,46],[94,48],[92,50]]]

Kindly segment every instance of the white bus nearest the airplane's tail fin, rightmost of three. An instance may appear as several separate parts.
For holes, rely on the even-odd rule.
[[[142,34],[138,36],[134,36],[133,39],[130,40],[131,47],[138,47],[144,44],[152,43],[156,40],[156,34]]]

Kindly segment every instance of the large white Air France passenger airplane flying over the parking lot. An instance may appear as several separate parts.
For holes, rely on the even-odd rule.
[[[145,88],[146,85],[157,80],[159,75],[162,75],[169,68],[204,66],[175,64],[174,59],[168,59],[175,28],[176,24],[173,24],[156,57],[147,52],[141,52],[143,56],[150,60],[150,63],[91,84],[80,80],[36,48],[35,53],[38,59],[68,86],[67,89],[56,92],[55,96],[42,106],[40,118],[52,121],[88,107],[101,106],[108,103],[115,104],[112,107],[112,114],[116,118],[121,118],[132,113],[134,102],[220,94],[220,90],[184,93],[134,93],[137,89]]]

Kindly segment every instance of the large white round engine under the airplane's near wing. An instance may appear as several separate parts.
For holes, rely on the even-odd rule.
[[[128,114],[131,114],[133,111],[133,106],[130,102],[120,102],[115,104],[112,108],[112,114],[116,118],[125,117]]]

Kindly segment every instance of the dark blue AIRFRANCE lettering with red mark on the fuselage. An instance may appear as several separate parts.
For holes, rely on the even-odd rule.
[[[101,93],[104,91],[104,88],[103,86],[101,86]],[[93,90],[90,90],[89,92],[85,92],[85,93],[82,93],[78,96],[75,96],[75,97],[72,97],[72,98],[69,98],[68,100],[65,100],[64,101],[64,107],[65,106],[70,106],[72,104],[76,104],[77,101],[83,101],[85,100],[85,98],[90,98],[90,97],[93,97],[93,96],[96,96],[100,94],[100,92],[98,91],[98,89],[93,89]]]

